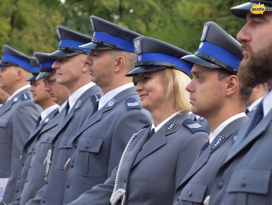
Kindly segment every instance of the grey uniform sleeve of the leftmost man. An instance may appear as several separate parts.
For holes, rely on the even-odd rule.
[[[24,101],[14,111],[12,116],[12,155],[11,155],[11,174],[7,187],[4,192],[3,201],[12,202],[15,191],[16,180],[20,175],[23,164],[20,162],[20,155],[23,146],[33,130],[39,116],[39,109],[32,101]]]

